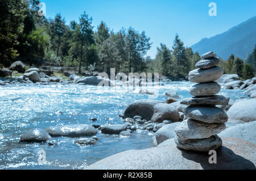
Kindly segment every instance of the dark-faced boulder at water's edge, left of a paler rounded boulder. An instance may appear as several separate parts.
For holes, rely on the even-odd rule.
[[[134,117],[134,116],[141,116],[142,119],[150,120],[151,117],[154,115],[154,106],[155,104],[163,103],[159,100],[152,100],[152,99],[142,99],[137,100],[133,104],[130,104],[124,113],[124,118],[126,117]]]

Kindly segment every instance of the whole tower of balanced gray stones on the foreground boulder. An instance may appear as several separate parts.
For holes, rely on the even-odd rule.
[[[189,93],[192,98],[181,100],[181,104],[189,105],[184,114],[187,120],[176,128],[175,142],[177,147],[185,150],[209,151],[219,148],[222,140],[218,133],[226,128],[228,115],[216,105],[227,105],[228,99],[222,95],[215,95],[221,90],[216,81],[224,73],[216,66],[220,60],[214,52],[207,52],[201,56],[203,60],[197,62],[196,70],[188,74],[192,86]]]

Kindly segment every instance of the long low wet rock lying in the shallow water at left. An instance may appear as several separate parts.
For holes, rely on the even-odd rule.
[[[48,127],[46,131],[52,137],[67,136],[67,137],[81,137],[93,136],[97,133],[97,129],[89,124],[68,124],[54,127]]]

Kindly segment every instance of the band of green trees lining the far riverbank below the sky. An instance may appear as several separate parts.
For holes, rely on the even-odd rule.
[[[16,60],[30,66],[77,67],[110,72],[158,72],[172,79],[186,79],[200,61],[198,52],[185,47],[179,35],[173,46],[160,44],[155,58],[146,56],[151,48],[150,37],[132,27],[114,32],[105,22],[92,26],[93,18],[84,12],[79,21],[69,24],[61,14],[54,19],[39,16],[39,1],[0,1],[0,68]],[[220,57],[221,59],[221,57]],[[220,66],[226,74],[238,74],[242,79],[255,76],[256,45],[242,60],[230,55]]]

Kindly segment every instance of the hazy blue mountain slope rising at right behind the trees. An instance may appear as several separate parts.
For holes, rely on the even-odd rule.
[[[203,54],[214,51],[223,60],[227,60],[230,54],[243,60],[253,52],[256,44],[256,16],[246,22],[238,24],[230,30],[219,35],[204,38],[191,46],[194,52]]]

